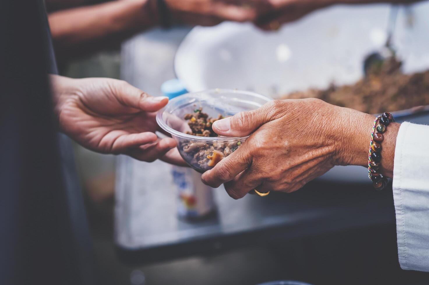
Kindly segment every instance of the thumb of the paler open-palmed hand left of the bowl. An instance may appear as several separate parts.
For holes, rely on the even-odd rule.
[[[120,84],[116,84],[115,95],[118,101],[126,107],[132,107],[146,112],[155,112],[168,103],[168,97],[150,96],[125,81],[119,82]]]

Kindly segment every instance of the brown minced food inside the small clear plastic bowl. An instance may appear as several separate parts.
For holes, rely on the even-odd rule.
[[[202,108],[196,109],[193,114],[186,114],[184,119],[188,121],[191,131],[188,135],[200,137],[218,137],[211,125],[224,117],[219,114],[218,118],[208,117],[202,112]],[[234,150],[241,146],[241,141],[205,143],[200,141],[183,141],[179,143],[182,156],[195,168],[206,171],[214,167],[224,157],[229,156]]]

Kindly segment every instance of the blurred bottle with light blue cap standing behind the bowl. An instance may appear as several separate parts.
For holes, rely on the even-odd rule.
[[[178,79],[161,85],[164,96],[172,99],[187,93]],[[188,167],[171,166],[173,185],[177,189],[177,214],[186,219],[202,219],[216,209],[213,189],[201,182],[201,174]]]

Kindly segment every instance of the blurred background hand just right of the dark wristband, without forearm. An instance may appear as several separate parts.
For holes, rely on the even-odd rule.
[[[271,5],[268,0],[164,0],[172,20],[211,26],[222,21],[255,21]]]

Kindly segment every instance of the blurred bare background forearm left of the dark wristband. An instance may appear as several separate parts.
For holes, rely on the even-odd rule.
[[[150,0],[116,0],[49,14],[59,57],[91,52],[155,25],[156,7]]]

